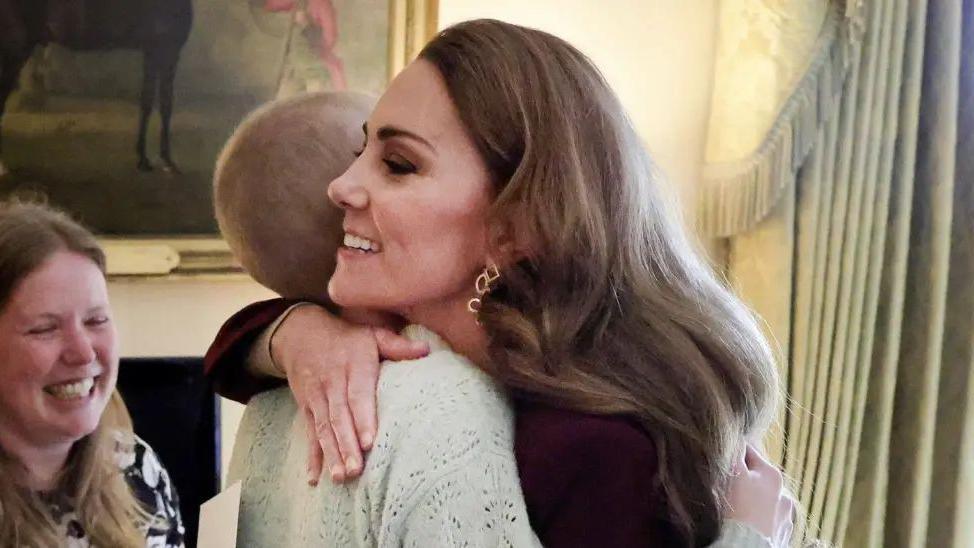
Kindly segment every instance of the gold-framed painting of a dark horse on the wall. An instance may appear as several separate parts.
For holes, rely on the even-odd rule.
[[[111,275],[237,271],[212,205],[236,124],[378,94],[435,29],[435,0],[0,0],[0,197],[70,211]]]

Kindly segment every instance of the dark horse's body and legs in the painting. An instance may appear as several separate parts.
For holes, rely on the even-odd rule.
[[[175,171],[169,148],[173,80],[192,25],[192,0],[0,0],[0,139],[4,105],[35,47],[53,42],[73,50],[134,49],[142,52],[138,167],[152,169],[145,134],[158,97],[160,156],[163,167]]]

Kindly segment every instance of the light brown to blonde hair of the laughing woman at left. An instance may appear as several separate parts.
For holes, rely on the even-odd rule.
[[[36,201],[0,202],[0,313],[20,282],[51,255],[67,250],[105,272],[95,237],[67,214]],[[125,403],[113,391],[94,432],[71,448],[57,492],[70,501],[92,545],[144,546],[148,515],[115,461],[119,434],[132,438]],[[60,546],[48,506],[18,483],[24,464],[0,447],[0,539],[5,546]]]

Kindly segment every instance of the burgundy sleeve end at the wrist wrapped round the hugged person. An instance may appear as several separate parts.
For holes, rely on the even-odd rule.
[[[217,394],[247,403],[258,394],[282,384],[277,379],[257,378],[243,365],[257,337],[278,316],[298,301],[270,299],[251,304],[230,317],[217,332],[203,357],[203,367]]]

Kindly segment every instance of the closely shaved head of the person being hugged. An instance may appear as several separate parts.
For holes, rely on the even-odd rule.
[[[257,282],[284,297],[328,303],[343,214],[328,199],[362,145],[374,98],[311,93],[250,114],[213,177],[220,231]]]

